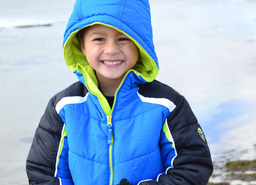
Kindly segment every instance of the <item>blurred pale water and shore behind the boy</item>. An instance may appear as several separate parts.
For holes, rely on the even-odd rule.
[[[214,162],[209,184],[256,184],[256,0],[149,2],[156,79],[184,95],[201,124]],[[0,0],[3,185],[28,184],[25,162],[44,109],[77,81],[62,54],[74,3]]]

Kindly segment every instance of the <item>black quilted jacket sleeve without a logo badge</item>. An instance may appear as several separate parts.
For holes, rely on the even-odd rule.
[[[42,116],[28,153],[26,171],[29,184],[60,184],[54,177],[64,122],[55,110],[53,97]]]

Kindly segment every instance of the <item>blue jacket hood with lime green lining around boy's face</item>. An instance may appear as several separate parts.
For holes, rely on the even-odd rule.
[[[147,0],[76,0],[63,41],[63,55],[68,68],[78,78],[81,69],[96,85],[94,70],[81,51],[76,33],[86,26],[101,24],[128,36],[139,48],[140,56],[132,68],[140,83],[156,78],[159,67],[153,44],[150,7]],[[79,79],[81,81],[81,78]]]

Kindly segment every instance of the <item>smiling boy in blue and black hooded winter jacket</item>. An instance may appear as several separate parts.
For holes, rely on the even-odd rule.
[[[77,0],[56,94],[28,154],[30,184],[207,184],[212,160],[183,96],[155,80],[147,1]]]

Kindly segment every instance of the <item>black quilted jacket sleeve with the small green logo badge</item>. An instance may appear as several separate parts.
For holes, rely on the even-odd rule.
[[[167,125],[172,136],[172,143],[169,144],[173,144],[176,156],[167,167],[166,174],[160,174],[157,181],[142,181],[139,185],[204,185],[212,174],[207,141],[187,100],[179,95],[175,105],[176,108],[167,118]],[[161,150],[168,148],[164,144]]]

